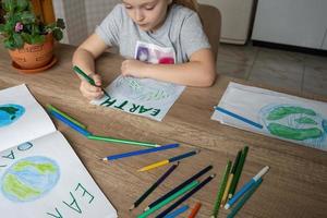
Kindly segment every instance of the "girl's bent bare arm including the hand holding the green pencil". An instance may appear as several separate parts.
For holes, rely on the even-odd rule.
[[[73,65],[81,68],[89,75],[97,86],[101,86],[100,75],[95,73],[95,59],[97,59],[108,46],[96,34],[89,36],[74,52]],[[100,87],[93,86],[81,77],[80,90],[88,99],[100,98],[104,92]]]

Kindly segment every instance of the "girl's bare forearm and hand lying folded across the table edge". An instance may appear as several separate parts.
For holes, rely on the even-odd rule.
[[[137,60],[122,63],[122,74],[148,77],[187,86],[211,86],[216,78],[216,66],[211,50],[195,51],[190,62],[179,64],[150,64]]]

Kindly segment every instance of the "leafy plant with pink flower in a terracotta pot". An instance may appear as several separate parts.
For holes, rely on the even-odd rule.
[[[35,15],[29,0],[3,0],[2,9],[5,14],[4,24],[0,24],[0,35],[13,65],[37,70],[53,62],[53,39],[62,39],[63,20],[44,24]]]

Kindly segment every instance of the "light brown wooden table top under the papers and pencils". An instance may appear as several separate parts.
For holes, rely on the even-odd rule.
[[[217,177],[187,201],[190,207],[201,201],[203,207],[197,217],[209,217],[226,162],[228,159],[233,160],[238,150],[244,145],[250,147],[250,152],[239,187],[264,166],[270,166],[270,171],[265,175],[263,184],[251,201],[239,213],[239,217],[327,217],[327,153],[229,128],[210,120],[213,107],[217,105],[230,81],[250,83],[220,76],[213,87],[187,87],[164,121],[157,122],[89,105],[80,94],[78,78],[71,70],[74,49],[70,46],[58,46],[59,63],[46,72],[28,75],[12,69],[8,52],[1,48],[0,88],[26,83],[43,106],[51,104],[63,109],[87,124],[90,132],[99,135],[182,145],[179,149],[121,159],[107,165],[99,159],[110,154],[138,149],[138,147],[92,142],[53,120],[102,192],[114,205],[120,217],[135,217],[159,195],[199,169],[213,165],[211,173],[216,173]],[[119,74],[122,60],[117,55],[106,53],[97,61],[97,71],[101,72],[104,84],[108,85]],[[261,86],[261,84],[255,85]],[[318,96],[304,97],[327,101],[326,98]],[[201,147],[202,152],[183,160],[164,185],[160,185],[138,208],[130,213],[132,203],[167,170],[167,167],[143,173],[136,172],[136,169],[190,150],[192,147]],[[220,217],[226,215],[227,211],[221,209]]]

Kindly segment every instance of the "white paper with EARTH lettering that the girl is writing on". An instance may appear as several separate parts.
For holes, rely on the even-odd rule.
[[[106,88],[110,97],[92,104],[161,121],[183,89],[171,83],[120,75]]]

